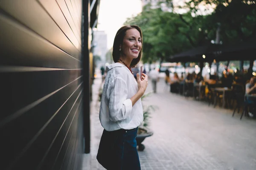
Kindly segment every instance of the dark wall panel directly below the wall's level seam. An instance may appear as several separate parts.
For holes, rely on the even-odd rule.
[[[5,70],[8,71],[8,68],[15,69],[15,67],[6,67]],[[6,93],[7,96],[1,107],[5,112],[0,114],[0,126],[9,119],[7,116],[10,117],[12,113],[32,105],[33,102],[47,98],[49,94],[60,91],[69,84],[78,85],[81,76],[80,69],[49,71],[33,71],[35,68],[30,67],[16,67],[16,69],[19,71],[6,73],[0,71],[2,80],[0,94]]]

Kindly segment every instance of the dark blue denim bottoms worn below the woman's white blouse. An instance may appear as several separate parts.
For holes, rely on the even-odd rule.
[[[140,170],[137,151],[138,127],[114,131],[103,130],[97,160],[107,170]]]

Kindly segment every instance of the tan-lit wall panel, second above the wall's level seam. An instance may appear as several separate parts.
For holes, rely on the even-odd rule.
[[[56,45],[58,48],[61,48],[75,58],[79,57],[79,50],[76,48],[78,45],[74,42],[75,47],[70,42],[55,21],[52,20],[37,1],[17,0],[13,3],[13,1],[10,0],[3,0],[0,1],[0,7],[20,23],[23,23],[49,42],[52,42],[52,44]],[[55,10],[59,11],[60,9],[57,8]]]

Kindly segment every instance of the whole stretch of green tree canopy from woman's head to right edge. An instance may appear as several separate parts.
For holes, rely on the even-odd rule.
[[[212,14],[198,14],[202,4],[215,7]],[[145,6],[140,14],[128,18],[125,24],[142,28],[143,62],[163,61],[189,48],[211,43],[218,26],[221,28],[221,42],[225,44],[255,37],[255,5],[255,0],[189,0],[182,7],[188,9],[184,14]]]

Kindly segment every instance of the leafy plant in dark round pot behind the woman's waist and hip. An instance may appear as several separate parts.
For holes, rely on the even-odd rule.
[[[143,95],[141,97],[141,100],[143,100],[145,97],[149,96],[150,94],[151,92]],[[143,151],[145,149],[145,146],[142,144],[145,138],[153,135],[153,132],[149,130],[148,125],[149,125],[149,119],[151,118],[150,114],[152,111],[155,111],[155,108],[156,106],[153,106],[153,105],[149,105],[149,106],[143,105],[144,120],[138,128],[137,137],[136,137],[138,150],[140,151]]]

